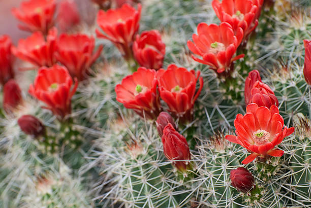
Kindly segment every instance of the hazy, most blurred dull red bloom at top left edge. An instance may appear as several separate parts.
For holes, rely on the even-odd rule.
[[[57,25],[60,31],[68,31],[80,23],[80,15],[76,3],[73,0],[65,0],[59,3]]]

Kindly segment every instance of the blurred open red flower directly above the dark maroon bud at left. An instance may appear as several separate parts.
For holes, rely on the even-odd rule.
[[[41,67],[29,94],[46,103],[46,109],[61,119],[71,113],[71,97],[75,94],[78,81],[72,87],[72,78],[64,66]]]

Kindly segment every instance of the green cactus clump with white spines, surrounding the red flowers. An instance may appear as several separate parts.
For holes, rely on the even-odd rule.
[[[227,77],[196,62],[186,45],[200,22],[220,23],[211,0],[141,4],[139,33],[160,31],[166,45],[163,68],[174,63],[200,71],[204,80],[193,120],[174,118],[176,130],[189,145],[188,169],[180,171],[176,161],[166,158],[154,120],[140,117],[117,101],[115,86],[133,68],[114,44],[97,38],[96,47],[104,44],[104,49],[92,64],[89,78],[79,83],[66,121],[27,95],[37,72],[18,72],[15,79],[23,103],[13,113],[2,110],[0,114],[0,206],[311,206],[311,87],[303,76],[303,40],[311,39],[309,2],[265,1],[259,25],[237,49],[237,55],[245,56],[234,61]],[[96,26],[94,22],[76,29],[96,36]],[[258,70],[262,82],[272,89],[284,124],[294,126],[295,132],[277,145],[284,151],[282,157],[257,157],[243,165],[250,153],[226,140],[226,135],[235,133],[236,115],[246,112],[244,83],[252,70]],[[164,100],[161,106],[170,113]],[[22,132],[17,120],[25,114],[39,118],[46,133],[34,138]],[[230,171],[242,166],[255,178],[254,188],[246,193],[230,181]]]

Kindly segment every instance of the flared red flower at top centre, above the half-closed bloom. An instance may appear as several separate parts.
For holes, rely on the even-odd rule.
[[[97,14],[97,24],[105,32],[96,29],[97,37],[110,40],[126,60],[133,57],[132,43],[139,29],[141,5],[135,10],[128,4],[119,9],[107,12],[100,10]]]

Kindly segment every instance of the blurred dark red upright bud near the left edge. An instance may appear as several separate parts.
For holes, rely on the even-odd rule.
[[[22,103],[21,90],[18,84],[12,79],[3,88],[3,108],[7,113],[11,113]]]

